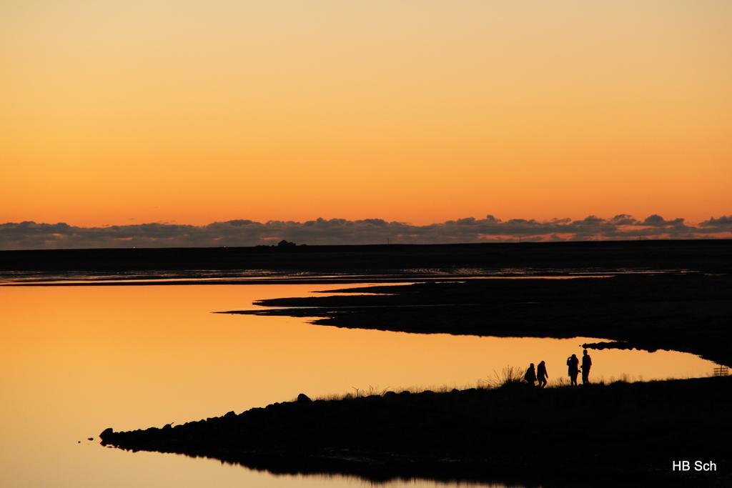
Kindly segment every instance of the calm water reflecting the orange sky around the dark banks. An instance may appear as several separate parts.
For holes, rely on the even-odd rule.
[[[556,381],[564,359],[594,340],[406,334],[211,313],[335,288],[343,285],[0,288],[0,486],[368,486],[102,448],[97,434],[239,413],[299,392],[476,386],[507,365],[542,359]],[[707,376],[714,366],[667,351],[591,355],[593,377],[606,380]]]

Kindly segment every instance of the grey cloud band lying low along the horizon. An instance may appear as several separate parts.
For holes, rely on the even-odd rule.
[[[621,239],[709,239],[732,237],[732,216],[710,217],[698,225],[654,214],[638,220],[627,214],[610,219],[501,220],[468,217],[429,225],[383,219],[315,219],[307,222],[229,220],[209,225],[148,223],[77,227],[63,222],[0,224],[0,249],[100,247],[235,247],[277,244],[451,244],[491,241],[586,241]]]

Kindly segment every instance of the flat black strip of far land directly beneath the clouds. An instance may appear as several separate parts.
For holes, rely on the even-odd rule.
[[[732,271],[731,239],[0,251],[2,272],[269,270],[376,274],[405,269]]]

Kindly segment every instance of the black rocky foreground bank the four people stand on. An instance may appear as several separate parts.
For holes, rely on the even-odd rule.
[[[275,403],[162,429],[102,432],[119,448],[275,473],[577,484],[729,486],[732,378],[523,384]],[[673,471],[673,461],[692,469]],[[695,471],[694,461],[714,462]]]

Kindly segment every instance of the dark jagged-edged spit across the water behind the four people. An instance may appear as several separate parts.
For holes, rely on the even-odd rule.
[[[367,291],[369,295],[362,295]],[[315,318],[361,329],[494,337],[601,337],[602,345],[671,349],[732,364],[732,276],[631,274],[576,279],[470,279],[329,290],[230,311]],[[594,347],[597,345],[589,345]]]

